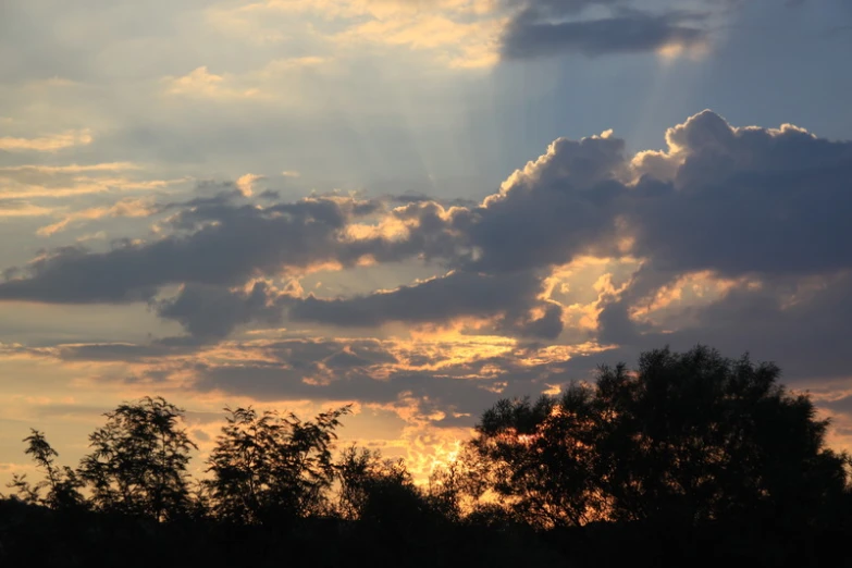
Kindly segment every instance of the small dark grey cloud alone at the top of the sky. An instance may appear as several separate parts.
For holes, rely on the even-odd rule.
[[[689,47],[707,35],[706,16],[683,12],[651,14],[621,10],[609,17],[553,21],[540,9],[519,12],[504,30],[504,59],[531,59],[557,53],[586,57],[656,51],[677,45]]]

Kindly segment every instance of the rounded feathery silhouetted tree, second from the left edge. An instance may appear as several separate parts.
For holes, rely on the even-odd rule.
[[[187,465],[197,446],[178,428],[183,409],[162,397],[145,397],[107,412],[107,424],[89,435],[91,453],[79,477],[100,510],[156,520],[189,508]]]

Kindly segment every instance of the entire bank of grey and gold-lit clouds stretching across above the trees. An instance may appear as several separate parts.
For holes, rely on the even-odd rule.
[[[848,376],[852,143],[712,111],[665,140],[560,138],[479,202],[201,184],[149,203],[147,238],[47,249],[0,283],[11,304],[147,305],[182,335],[12,350],[439,428],[666,344],[751,349],[800,386]],[[402,283],[331,292],[369,273]]]

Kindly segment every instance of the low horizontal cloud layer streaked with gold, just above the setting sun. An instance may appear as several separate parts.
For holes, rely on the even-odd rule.
[[[205,362],[187,365],[193,387],[200,392],[260,400],[358,400],[409,420],[456,427],[470,425],[473,419],[458,422],[453,413],[478,416],[502,395],[566,383],[566,353],[553,357],[546,349],[517,349],[496,337],[300,338],[223,344],[206,351]],[[173,372],[183,376],[183,367]]]

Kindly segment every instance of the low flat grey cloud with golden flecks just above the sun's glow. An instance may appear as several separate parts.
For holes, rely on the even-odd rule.
[[[293,339],[269,345],[262,353],[263,361],[195,368],[198,380],[194,388],[219,390],[260,400],[354,399],[381,405],[413,402],[421,417],[441,410],[447,417],[434,423],[453,427],[472,425],[480,412],[502,396],[541,392],[546,384],[565,384],[572,379],[563,361],[529,365],[520,360],[523,353],[457,362],[423,351],[418,363],[407,354],[407,366],[399,366],[387,344],[371,339]],[[333,361],[344,357],[347,365],[334,366]],[[349,365],[356,360],[356,365]],[[440,371],[417,368],[437,366]],[[486,375],[486,368],[499,369],[499,373]],[[481,378],[470,378],[476,375]],[[454,418],[454,413],[470,416]]]

